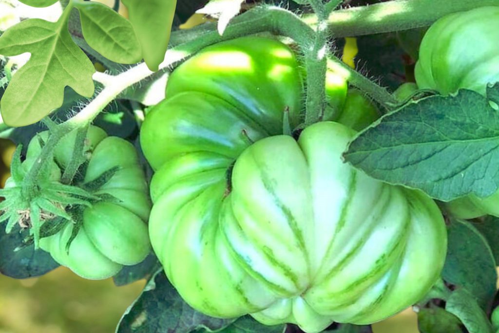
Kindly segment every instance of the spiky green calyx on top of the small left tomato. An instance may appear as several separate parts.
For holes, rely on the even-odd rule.
[[[22,166],[21,150],[22,147],[18,146],[12,158],[10,181],[5,188],[0,189],[0,196],[4,197],[0,203],[0,223],[7,221],[6,233],[12,232],[16,225],[21,229],[29,229],[29,236],[20,247],[34,244],[35,248],[38,248],[41,238],[52,236],[60,232],[67,223],[73,223],[72,235],[66,244],[68,251],[83,223],[83,211],[86,207],[103,200],[119,201],[111,194],[94,192],[105,185],[120,168],[113,167],[97,178],[84,182],[88,167],[88,154],[85,154],[85,161],[78,167],[69,184],[52,179],[53,168],[58,167],[64,172],[62,166],[50,166],[47,163],[36,183],[26,189],[23,185],[27,172]]]

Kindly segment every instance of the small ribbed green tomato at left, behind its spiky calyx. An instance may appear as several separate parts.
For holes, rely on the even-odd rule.
[[[31,140],[24,168],[33,164],[41,149],[40,139],[46,140],[47,136],[47,132],[42,132]],[[76,132],[71,132],[57,145],[50,166],[52,181],[60,180],[61,169],[64,170],[71,159],[75,139]],[[149,253],[146,222],[151,204],[144,172],[132,144],[108,137],[102,129],[91,126],[85,151],[88,166],[81,183],[76,185],[84,186],[117,167],[107,182],[92,190],[95,195],[112,197],[104,195],[102,200],[83,210],[82,226],[69,251],[66,244],[74,227],[70,222],[56,234],[41,238],[40,247],[81,277],[105,279],[115,275],[123,265],[141,262]]]

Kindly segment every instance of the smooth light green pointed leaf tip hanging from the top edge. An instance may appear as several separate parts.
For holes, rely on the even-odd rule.
[[[165,60],[177,0],[122,0],[142,47],[144,61],[157,71]]]

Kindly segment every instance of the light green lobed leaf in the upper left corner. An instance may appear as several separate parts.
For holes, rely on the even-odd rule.
[[[71,39],[64,19],[22,21],[0,36],[0,54],[30,52],[31,58],[12,77],[0,102],[8,126],[33,124],[63,102],[64,88],[91,97],[95,69]]]

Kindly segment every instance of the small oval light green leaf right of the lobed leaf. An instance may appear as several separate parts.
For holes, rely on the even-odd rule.
[[[92,1],[74,1],[80,12],[86,42],[107,59],[133,64],[142,59],[139,41],[132,24],[108,6]]]

